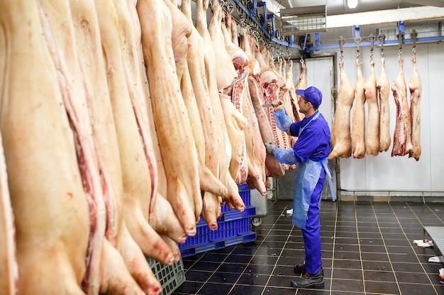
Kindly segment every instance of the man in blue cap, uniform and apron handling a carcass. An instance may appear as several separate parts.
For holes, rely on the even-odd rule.
[[[296,273],[302,277],[292,279],[292,287],[323,287],[321,265],[321,229],[319,224],[319,205],[324,180],[328,175],[331,189],[331,170],[327,166],[330,153],[330,128],[326,119],[318,111],[322,93],[316,87],[298,89],[299,112],[304,119],[292,123],[285,114],[283,105],[274,107],[273,115],[279,129],[298,137],[296,144],[289,149],[280,149],[273,142],[265,144],[267,154],[274,156],[280,163],[298,164],[293,198],[292,223],[302,230],[305,247],[305,263],[295,265]],[[332,190],[333,201],[335,195]]]

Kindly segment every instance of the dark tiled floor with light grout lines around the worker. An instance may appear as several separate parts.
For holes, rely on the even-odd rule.
[[[174,295],[444,294],[433,248],[418,248],[423,226],[444,225],[443,203],[321,203],[323,289],[293,289],[304,260],[301,231],[270,202],[256,241],[183,258],[186,282]]]

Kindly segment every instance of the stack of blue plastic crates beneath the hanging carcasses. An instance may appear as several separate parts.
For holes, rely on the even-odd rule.
[[[239,194],[245,204],[245,210],[238,212],[223,205],[223,216],[218,219],[216,231],[211,231],[204,220],[199,220],[196,224],[196,236],[190,236],[185,243],[179,244],[182,258],[229,245],[255,241],[256,233],[251,231],[251,217],[255,216],[256,210],[251,205],[250,189],[246,185],[241,185]]]

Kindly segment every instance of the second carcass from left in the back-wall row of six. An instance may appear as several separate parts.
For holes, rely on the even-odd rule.
[[[353,100],[352,146],[353,158],[365,156],[365,95],[364,77],[362,76],[359,58],[356,59],[357,78],[355,82],[355,99]]]

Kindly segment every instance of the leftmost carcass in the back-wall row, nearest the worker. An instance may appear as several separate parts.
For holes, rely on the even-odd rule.
[[[350,158],[352,156],[352,137],[350,132],[350,110],[355,99],[355,88],[345,73],[344,64],[339,62],[340,85],[338,100],[335,105],[335,116],[331,128],[331,143],[333,150],[328,160],[333,158]]]

